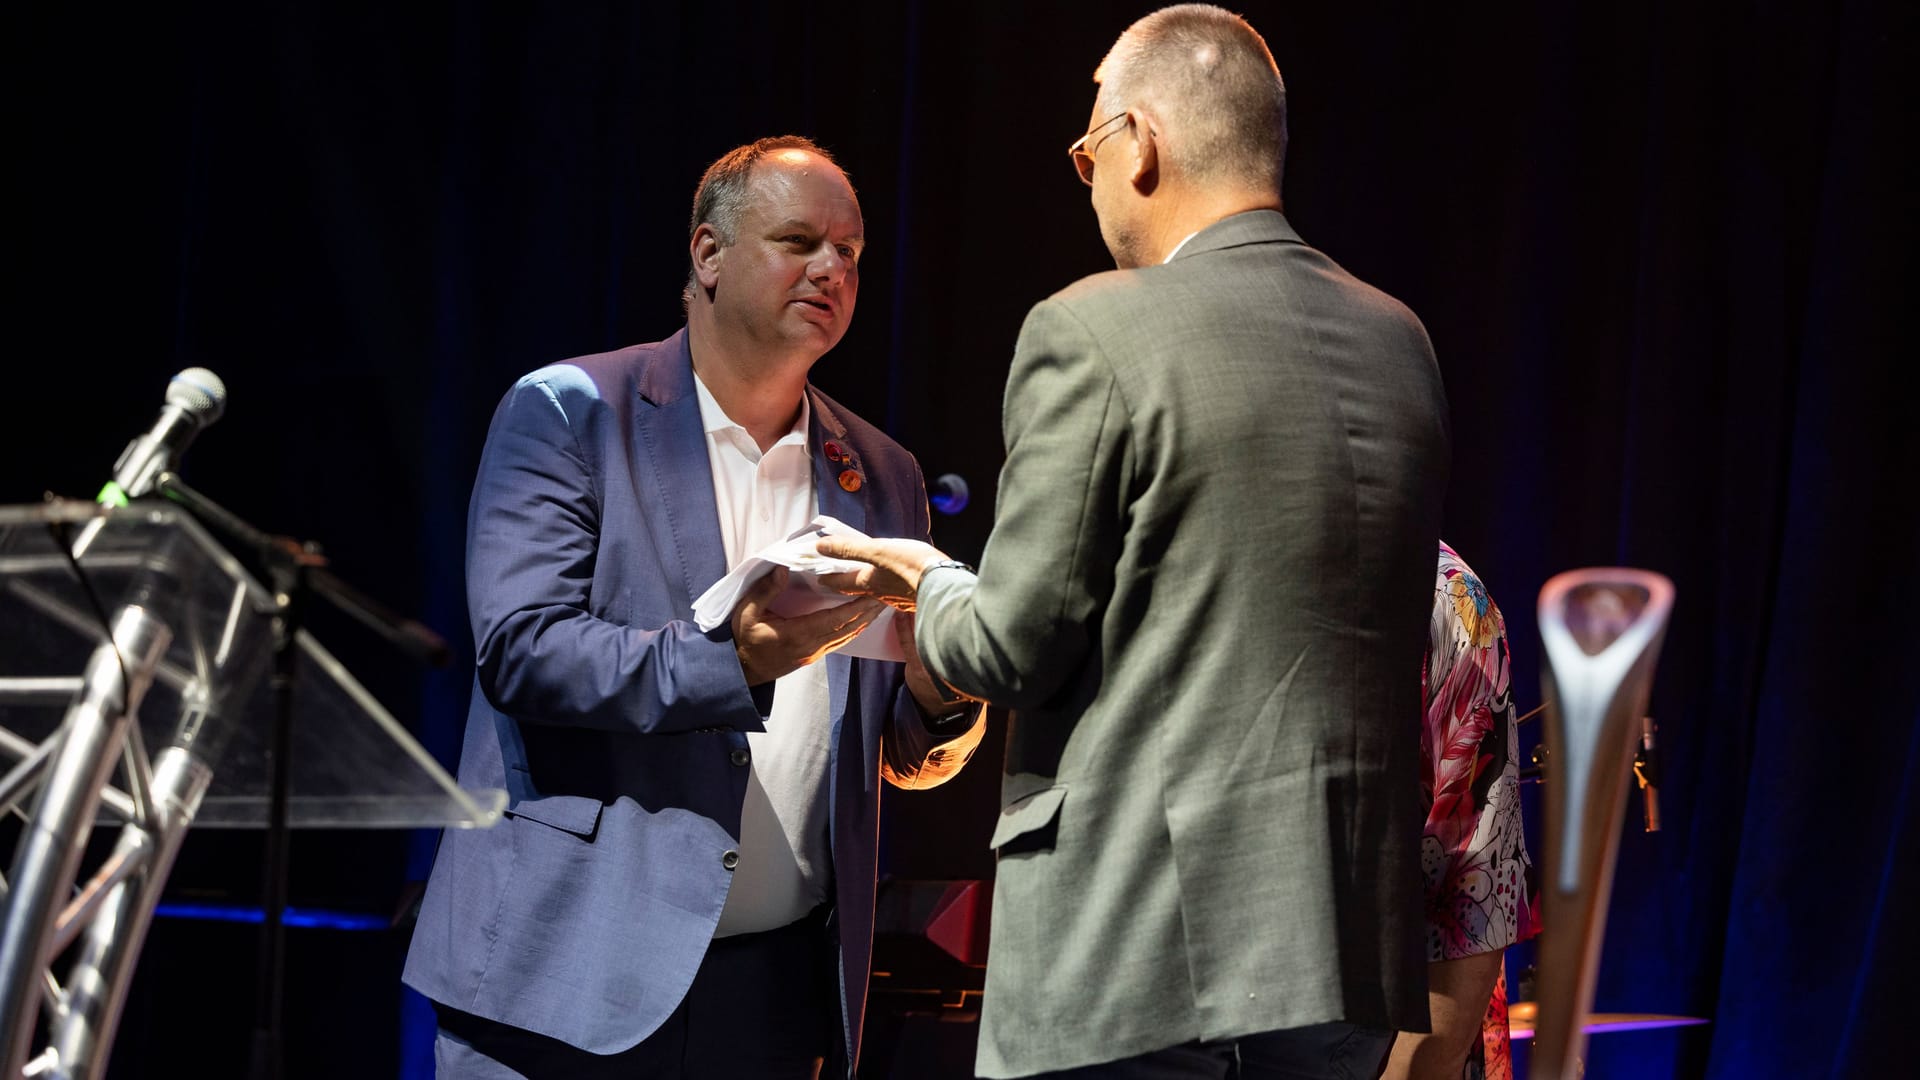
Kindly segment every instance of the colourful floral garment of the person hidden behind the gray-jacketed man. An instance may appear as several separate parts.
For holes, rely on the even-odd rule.
[[[1505,949],[1540,932],[1521,832],[1519,734],[1507,623],[1459,553],[1440,544],[1427,680],[1421,686],[1421,840],[1427,959]],[[1505,970],[1480,1024],[1469,1078],[1511,1080]]]

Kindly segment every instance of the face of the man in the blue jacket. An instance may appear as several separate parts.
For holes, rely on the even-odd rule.
[[[714,317],[770,352],[820,357],[860,294],[860,202],[833,165],[781,150],[755,165],[733,244],[718,254]]]

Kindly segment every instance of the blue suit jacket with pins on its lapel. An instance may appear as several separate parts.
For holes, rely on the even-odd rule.
[[[920,467],[808,386],[820,511],[927,534]],[[833,440],[864,482],[839,482]],[[507,815],[447,830],[405,982],[455,1009],[593,1053],[649,1036],[712,940],[764,730],[730,626],[693,600],[726,575],[687,334],[555,363],[499,404],[468,511],[476,673],[459,780]],[[981,724],[927,732],[899,663],[829,655],[831,849],[841,1015],[860,1040],[879,784],[931,786]]]

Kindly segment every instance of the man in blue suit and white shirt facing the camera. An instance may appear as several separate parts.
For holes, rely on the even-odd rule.
[[[881,611],[693,601],[814,515],[925,536],[918,463],[806,380],[860,286],[860,204],[804,138],[695,194],[687,325],[555,363],[493,415],[474,482],[476,673],[459,778],[505,819],[449,830],[405,982],[442,1076],[852,1074],[879,786],[954,774],[983,711],[839,653]]]

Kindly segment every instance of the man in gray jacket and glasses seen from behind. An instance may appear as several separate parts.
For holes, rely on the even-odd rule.
[[[1375,1076],[1427,1030],[1417,742],[1448,407],[1419,319],[1281,215],[1284,88],[1240,17],[1146,15],[1071,156],[1114,273],[1027,315],[979,573],[918,607],[1012,707],[983,1076]]]

